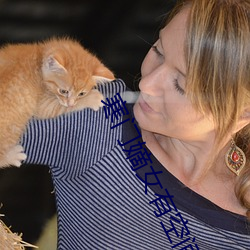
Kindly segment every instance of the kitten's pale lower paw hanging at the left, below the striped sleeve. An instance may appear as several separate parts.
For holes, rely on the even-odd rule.
[[[21,145],[16,145],[11,148],[6,154],[6,162],[8,163],[8,165],[20,167],[22,161],[27,158],[26,154],[23,151],[24,150]]]

